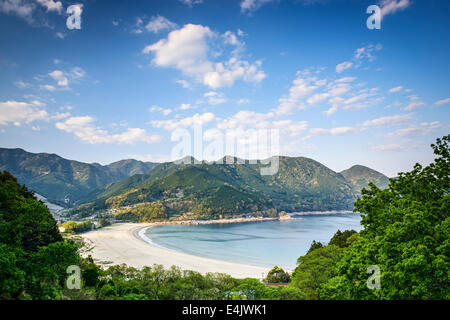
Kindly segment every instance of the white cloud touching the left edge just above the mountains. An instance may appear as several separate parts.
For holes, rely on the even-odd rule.
[[[18,102],[6,101],[0,102],[0,125],[13,123],[18,126],[22,122],[30,123],[36,120],[48,120],[48,113],[42,107],[44,104],[39,101]]]

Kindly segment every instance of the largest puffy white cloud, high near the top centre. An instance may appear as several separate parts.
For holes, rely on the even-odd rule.
[[[176,68],[212,89],[230,87],[236,80],[258,83],[266,77],[260,69],[261,61],[251,64],[241,60],[236,52],[226,61],[211,61],[208,42],[217,38],[209,27],[187,24],[170,32],[166,39],[146,46],[142,52],[154,53],[152,62],[156,66]]]

